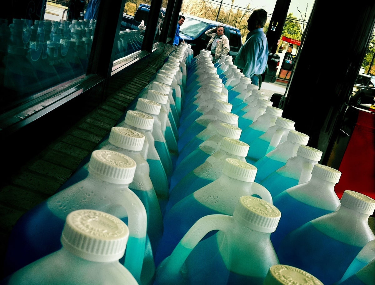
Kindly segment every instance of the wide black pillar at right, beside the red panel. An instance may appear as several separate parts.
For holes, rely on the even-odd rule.
[[[350,15],[355,15],[350,18]],[[315,0],[286,90],[283,117],[308,134],[326,164],[375,24],[375,1]]]

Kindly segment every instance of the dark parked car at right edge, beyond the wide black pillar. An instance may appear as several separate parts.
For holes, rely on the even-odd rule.
[[[361,104],[374,104],[375,97],[375,76],[360,73],[356,84],[353,87],[353,93],[350,96],[349,104],[360,106]]]

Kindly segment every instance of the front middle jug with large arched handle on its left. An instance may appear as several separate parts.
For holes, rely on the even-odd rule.
[[[245,195],[232,213],[198,219],[157,267],[154,284],[262,285],[279,264],[270,233],[280,215],[267,201]]]

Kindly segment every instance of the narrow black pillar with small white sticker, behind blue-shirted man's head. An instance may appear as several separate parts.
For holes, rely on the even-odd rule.
[[[278,48],[278,41],[282,34],[285,19],[288,15],[290,1],[291,0],[277,0],[275,8],[273,9],[270,25],[268,27],[268,31],[266,34],[268,50],[272,54],[276,54],[276,49]]]

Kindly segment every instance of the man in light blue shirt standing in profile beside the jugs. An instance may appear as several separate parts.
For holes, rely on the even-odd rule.
[[[268,42],[263,32],[267,21],[267,12],[257,9],[248,19],[249,33],[246,42],[240,48],[234,64],[242,70],[242,73],[251,78],[251,83],[259,85],[258,75],[266,71],[268,60]]]

